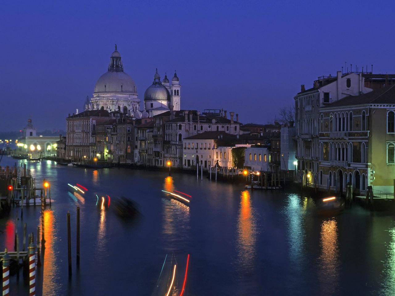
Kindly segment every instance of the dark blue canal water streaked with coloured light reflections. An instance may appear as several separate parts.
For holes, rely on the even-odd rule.
[[[1,165],[13,165],[4,157]],[[38,295],[395,295],[395,221],[354,205],[337,217],[320,217],[314,200],[299,193],[253,191],[241,185],[196,180],[191,174],[129,169],[81,169],[53,161],[27,163],[37,184],[52,185],[55,202],[44,212],[45,253]],[[88,188],[69,192],[68,183]],[[190,206],[162,190],[191,195]],[[110,204],[124,196],[141,218],[125,222]],[[107,200],[106,200],[107,203]],[[76,207],[81,208],[81,267],[76,269]],[[66,214],[71,214],[73,274],[68,277]],[[15,228],[41,225],[40,208],[23,220],[0,221],[0,245],[13,250]],[[20,241],[22,238],[20,235]],[[167,255],[166,264],[164,264]],[[160,280],[159,275],[162,271]],[[28,287],[11,277],[11,295]]]

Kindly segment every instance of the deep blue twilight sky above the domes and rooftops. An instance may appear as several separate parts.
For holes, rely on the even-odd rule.
[[[65,129],[117,43],[139,98],[177,69],[182,109],[266,123],[344,63],[395,73],[393,1],[9,1],[0,9],[0,131]],[[143,104],[141,103],[141,108]]]

